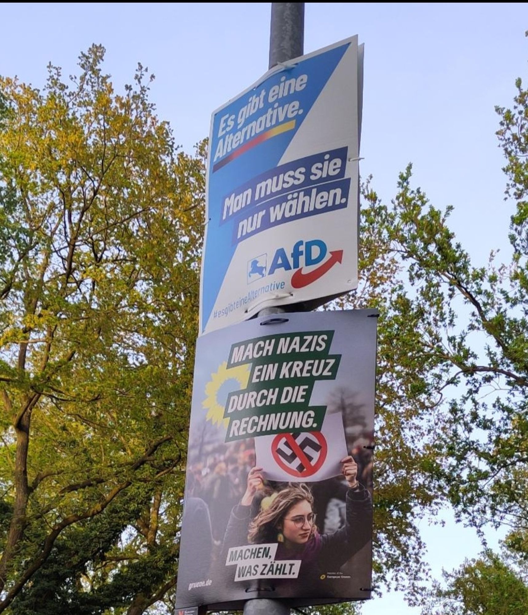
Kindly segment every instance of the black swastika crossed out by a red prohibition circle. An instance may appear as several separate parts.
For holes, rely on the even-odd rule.
[[[325,462],[327,451],[326,438],[318,431],[278,434],[271,444],[277,465],[296,478],[315,474]]]

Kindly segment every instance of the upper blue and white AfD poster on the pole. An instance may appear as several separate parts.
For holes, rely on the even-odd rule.
[[[213,113],[200,335],[357,287],[363,46],[268,71]]]

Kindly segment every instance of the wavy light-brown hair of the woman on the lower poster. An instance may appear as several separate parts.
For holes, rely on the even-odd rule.
[[[271,503],[265,510],[261,510],[250,523],[248,541],[253,544],[263,542],[277,542],[278,526],[288,514],[292,506],[302,501],[307,501],[313,507],[313,495],[309,486],[303,483],[290,483],[284,489],[278,491]],[[315,524],[312,525],[312,533],[315,532]]]

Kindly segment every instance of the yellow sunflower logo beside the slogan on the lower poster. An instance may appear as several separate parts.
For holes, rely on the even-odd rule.
[[[202,402],[202,407],[207,408],[205,418],[214,425],[220,426],[223,423],[224,427],[227,427],[229,419],[224,419],[227,395],[232,391],[245,389],[249,379],[249,365],[237,365],[228,369],[226,361],[221,363],[218,371],[211,374],[210,381],[205,385],[207,397]]]

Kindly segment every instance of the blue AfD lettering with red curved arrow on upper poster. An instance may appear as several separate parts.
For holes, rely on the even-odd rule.
[[[270,263],[267,271],[268,276],[272,276],[280,269],[284,271],[294,270],[291,276],[293,288],[303,288],[312,284],[326,272],[330,271],[336,263],[341,263],[343,250],[333,250],[327,258],[328,248],[322,239],[312,239],[310,241],[299,240],[294,244],[291,253],[288,255],[285,248],[278,248]],[[304,272],[304,267],[317,268]]]

